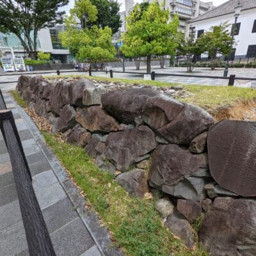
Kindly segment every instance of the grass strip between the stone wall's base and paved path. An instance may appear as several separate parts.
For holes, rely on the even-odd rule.
[[[26,102],[11,92],[20,106]],[[70,145],[60,136],[41,131],[45,142],[76,184],[84,191],[92,208],[113,234],[115,243],[129,256],[206,256],[201,248],[186,249],[177,237],[164,228],[154,199],[132,198],[109,173],[100,171],[83,148]]]

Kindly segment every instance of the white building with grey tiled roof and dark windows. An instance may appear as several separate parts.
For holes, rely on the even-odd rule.
[[[227,1],[214,10],[190,20],[190,27],[196,31],[196,36],[200,36],[212,26],[224,22],[234,24],[235,8],[239,4],[242,9],[236,24],[234,52],[236,58],[256,57],[256,0]]]

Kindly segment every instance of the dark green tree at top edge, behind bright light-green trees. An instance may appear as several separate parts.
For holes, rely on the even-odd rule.
[[[120,20],[120,4],[114,0],[91,0],[92,4],[96,6],[98,11],[98,19],[88,22],[87,26],[92,28],[97,26],[99,28],[109,27],[112,29],[112,33],[115,34],[120,26],[122,26],[122,20]]]

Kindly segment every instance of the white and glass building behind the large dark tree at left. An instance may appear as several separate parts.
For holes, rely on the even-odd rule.
[[[58,38],[58,33],[63,29],[63,25],[56,25],[54,28],[44,28],[38,31],[37,48],[38,51],[51,53],[52,61],[67,63],[71,58],[70,53],[68,49],[63,48]],[[10,54],[10,48],[13,49],[15,56],[26,56],[24,47],[16,35],[0,33],[0,49],[3,54]]]

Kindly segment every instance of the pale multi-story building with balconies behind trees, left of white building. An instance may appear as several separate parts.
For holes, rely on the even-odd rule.
[[[154,0],[143,0],[143,3],[152,3],[153,1]],[[186,35],[189,33],[189,20],[214,8],[212,2],[204,3],[200,0],[158,0],[158,3],[164,3],[164,8],[169,8],[170,20],[173,19],[175,13],[179,15],[179,29]]]

